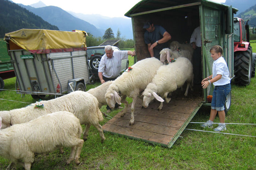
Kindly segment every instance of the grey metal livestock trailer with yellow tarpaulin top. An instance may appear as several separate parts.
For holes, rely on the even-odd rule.
[[[86,90],[86,32],[21,29],[5,34],[16,90],[36,100]]]

